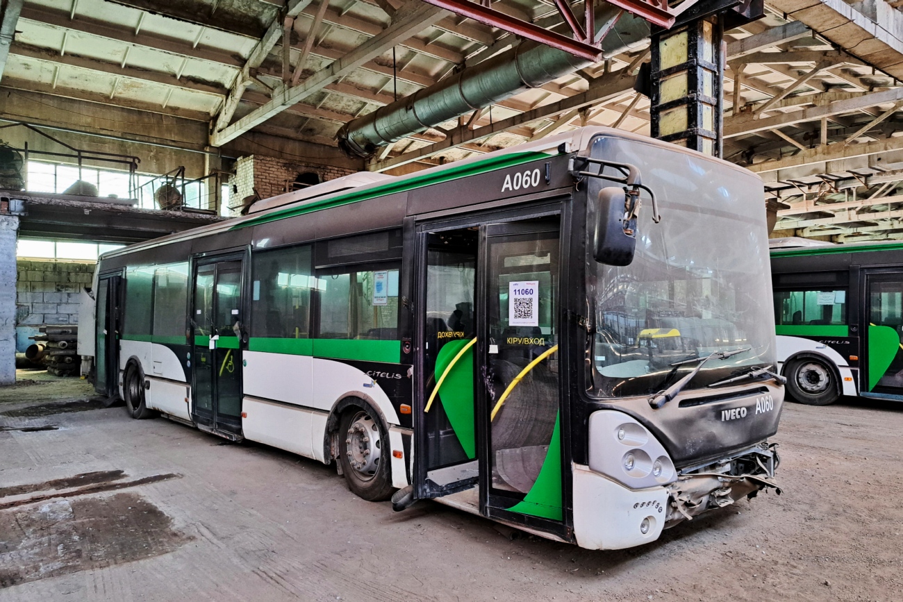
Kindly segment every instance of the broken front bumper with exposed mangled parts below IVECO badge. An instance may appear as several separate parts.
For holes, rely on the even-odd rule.
[[[780,464],[776,448],[776,443],[761,443],[731,458],[679,471],[677,480],[666,487],[665,528],[731,505],[742,497],[751,499],[762,489],[773,488],[780,495],[775,481]]]

